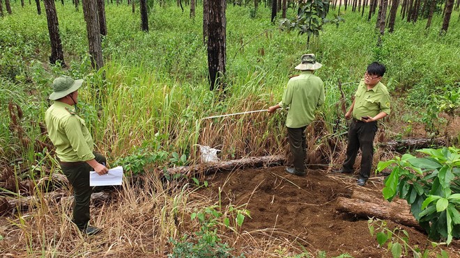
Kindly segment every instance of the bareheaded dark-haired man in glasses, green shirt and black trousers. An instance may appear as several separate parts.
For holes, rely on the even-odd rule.
[[[335,172],[351,173],[355,164],[358,150],[361,149],[361,169],[358,186],[364,186],[371,175],[372,156],[374,156],[374,138],[377,132],[377,120],[390,114],[390,94],[381,79],[385,74],[385,66],[381,63],[371,63],[360,81],[355,99],[346,119],[351,119],[348,129],[348,146],[346,160],[342,169]]]

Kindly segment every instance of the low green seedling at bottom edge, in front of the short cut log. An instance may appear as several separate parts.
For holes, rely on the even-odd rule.
[[[385,243],[387,244],[388,251],[391,251],[394,258],[399,258],[401,255],[407,257],[409,250],[413,252],[415,258],[431,257],[429,249],[420,250],[417,245],[414,247],[409,245],[409,234],[406,230],[398,227],[389,229],[385,220],[370,218],[367,220],[367,227],[371,236],[376,236],[378,245],[383,247]],[[431,245],[433,248],[437,248],[440,244],[431,242]],[[438,257],[448,257],[448,254],[445,250],[440,249]]]

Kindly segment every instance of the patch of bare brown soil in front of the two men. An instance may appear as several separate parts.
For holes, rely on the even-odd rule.
[[[273,229],[270,237],[289,239],[313,254],[325,251],[328,257],[345,252],[353,257],[391,257],[369,234],[367,218],[336,211],[337,197],[350,197],[352,189],[358,187],[353,177],[319,170],[309,170],[306,177],[298,177],[284,172],[284,167],[276,167],[219,172],[206,179],[210,187],[204,193],[217,197],[220,188],[222,205],[244,207],[247,204],[245,208],[251,218],[243,223],[243,232]],[[365,187],[383,187],[379,182],[369,183]],[[411,246],[422,249],[430,246],[426,234],[416,229],[392,222],[388,227],[405,229]],[[268,236],[256,234],[254,237],[264,241]],[[458,241],[447,250],[450,257],[460,257]]]

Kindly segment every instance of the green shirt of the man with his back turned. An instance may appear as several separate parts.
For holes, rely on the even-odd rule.
[[[289,106],[286,127],[305,127],[314,120],[314,111],[324,103],[323,81],[312,71],[302,71],[288,82],[279,106]]]

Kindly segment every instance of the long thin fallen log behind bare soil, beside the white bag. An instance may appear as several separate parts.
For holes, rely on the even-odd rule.
[[[166,171],[169,175],[172,174],[183,174],[190,177],[199,172],[211,173],[222,170],[235,170],[238,168],[260,168],[265,166],[280,166],[286,162],[286,156],[274,155],[274,156],[253,156],[243,159],[235,159],[232,161],[216,161],[201,163],[194,166],[181,166],[168,168]]]

